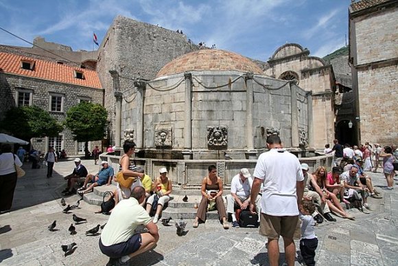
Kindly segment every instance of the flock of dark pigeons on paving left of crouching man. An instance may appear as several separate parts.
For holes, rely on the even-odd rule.
[[[80,209],[79,205],[80,205],[80,201],[81,200],[82,199],[79,199],[78,202],[76,202],[76,204],[74,204],[72,206],[68,204],[67,208],[62,210],[62,212],[65,213],[65,214],[68,214],[71,210]],[[60,203],[64,207],[67,205],[67,203],[65,202],[64,198],[61,199]],[[76,214],[73,214],[72,217],[73,217],[73,221],[75,222],[75,225],[87,222],[87,219],[78,217]],[[68,231],[70,232],[71,235],[74,235],[74,234],[78,233],[78,232],[76,232],[75,225],[73,225],[73,223],[71,223],[71,226],[69,226],[69,228],[68,228]],[[97,236],[98,235],[98,231],[100,231],[100,228],[104,229],[105,225],[106,225],[106,223],[104,225],[97,225],[97,226],[95,226],[95,228],[87,230],[86,231],[86,236],[89,236],[89,235]],[[54,221],[53,223],[51,223],[51,225],[48,226],[48,230],[51,231],[51,232],[54,232],[54,231],[56,231],[55,230],[56,226],[57,226],[57,221]],[[75,251],[75,249],[77,248],[77,247],[75,247],[75,245],[77,245],[77,244],[74,243],[74,242],[69,244],[69,245],[61,245],[62,251],[65,252],[65,256],[68,256],[68,255],[72,254]]]

